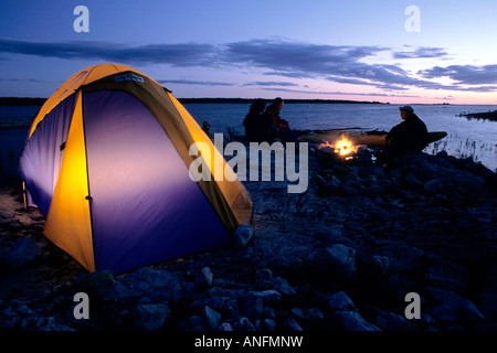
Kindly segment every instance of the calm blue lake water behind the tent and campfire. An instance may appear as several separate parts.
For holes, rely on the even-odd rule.
[[[242,121],[250,104],[184,104],[193,118],[202,125],[209,122],[211,132],[226,132],[232,128],[243,132]],[[425,152],[445,150],[457,158],[473,158],[493,171],[497,170],[497,122],[468,120],[461,113],[484,113],[496,110],[493,106],[465,105],[412,105],[415,114],[426,124],[429,131],[446,131],[447,137],[431,143]],[[31,121],[40,107],[0,107],[0,127],[14,127]],[[363,128],[389,131],[401,122],[399,105],[376,104],[285,104],[282,117],[296,129]],[[14,130],[0,130],[0,147],[9,151],[19,148],[19,136]],[[22,148],[22,146],[21,146]],[[7,153],[7,152],[4,152]],[[11,153],[12,154],[12,153]],[[2,159],[7,156],[2,156]],[[10,156],[12,158],[12,156]],[[17,158],[14,156],[14,158]]]

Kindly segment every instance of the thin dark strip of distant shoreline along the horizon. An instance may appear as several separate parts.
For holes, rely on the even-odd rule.
[[[42,106],[47,98],[0,97],[0,106]],[[251,104],[256,98],[178,98],[181,104]],[[265,99],[271,103],[273,99]],[[361,101],[342,99],[284,99],[288,104],[390,104],[381,101]]]

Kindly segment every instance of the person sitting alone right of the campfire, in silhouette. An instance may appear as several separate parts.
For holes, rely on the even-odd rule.
[[[395,125],[385,138],[385,146],[377,158],[380,164],[389,163],[405,152],[422,151],[427,145],[426,125],[415,114],[411,106],[399,108],[402,122]]]

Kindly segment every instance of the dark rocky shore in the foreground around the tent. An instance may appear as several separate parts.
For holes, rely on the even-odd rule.
[[[232,246],[120,276],[84,270],[6,188],[0,330],[493,331],[496,180],[445,152],[385,170],[314,149],[303,194],[245,182],[253,222]],[[74,315],[77,292],[89,319]],[[419,319],[408,318],[409,293]]]

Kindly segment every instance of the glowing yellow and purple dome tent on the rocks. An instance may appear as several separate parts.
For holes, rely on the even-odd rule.
[[[101,64],[41,107],[19,174],[52,243],[89,271],[120,274],[224,246],[250,222],[240,180],[190,178],[195,142],[219,154],[169,90],[130,67]]]

